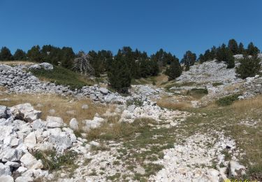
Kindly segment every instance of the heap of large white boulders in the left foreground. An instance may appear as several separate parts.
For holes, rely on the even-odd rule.
[[[48,116],[41,120],[41,111],[31,104],[20,104],[10,109],[0,106],[0,181],[33,181],[34,178],[52,178],[42,170],[43,163],[36,160],[34,151],[81,149],[73,130],[61,118]],[[82,140],[82,139],[81,139]],[[51,175],[51,176],[50,176]]]

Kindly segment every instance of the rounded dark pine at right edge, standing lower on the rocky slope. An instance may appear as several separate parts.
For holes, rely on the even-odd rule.
[[[260,59],[257,56],[249,57],[244,55],[243,59],[240,59],[240,66],[236,68],[236,73],[240,78],[245,79],[247,77],[253,77],[259,74],[261,69]]]

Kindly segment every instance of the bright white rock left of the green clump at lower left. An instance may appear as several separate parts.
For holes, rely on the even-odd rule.
[[[41,160],[36,160],[31,153],[26,153],[22,156],[20,161],[24,164],[24,167],[28,169],[41,169],[43,168],[43,164]]]

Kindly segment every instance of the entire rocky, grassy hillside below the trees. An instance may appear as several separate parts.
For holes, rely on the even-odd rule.
[[[196,63],[122,95],[51,66],[0,64],[0,181],[262,180],[260,75]]]

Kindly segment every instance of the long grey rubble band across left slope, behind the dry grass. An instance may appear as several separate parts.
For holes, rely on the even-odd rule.
[[[41,64],[41,66],[50,69],[48,65]],[[98,85],[82,87],[79,90],[70,90],[69,87],[63,85],[41,82],[36,76],[30,72],[23,71],[20,67],[11,67],[4,64],[0,64],[0,86],[8,87],[9,92],[16,93],[51,93],[63,96],[90,97],[96,102],[118,104],[126,102],[121,95],[112,93]]]

